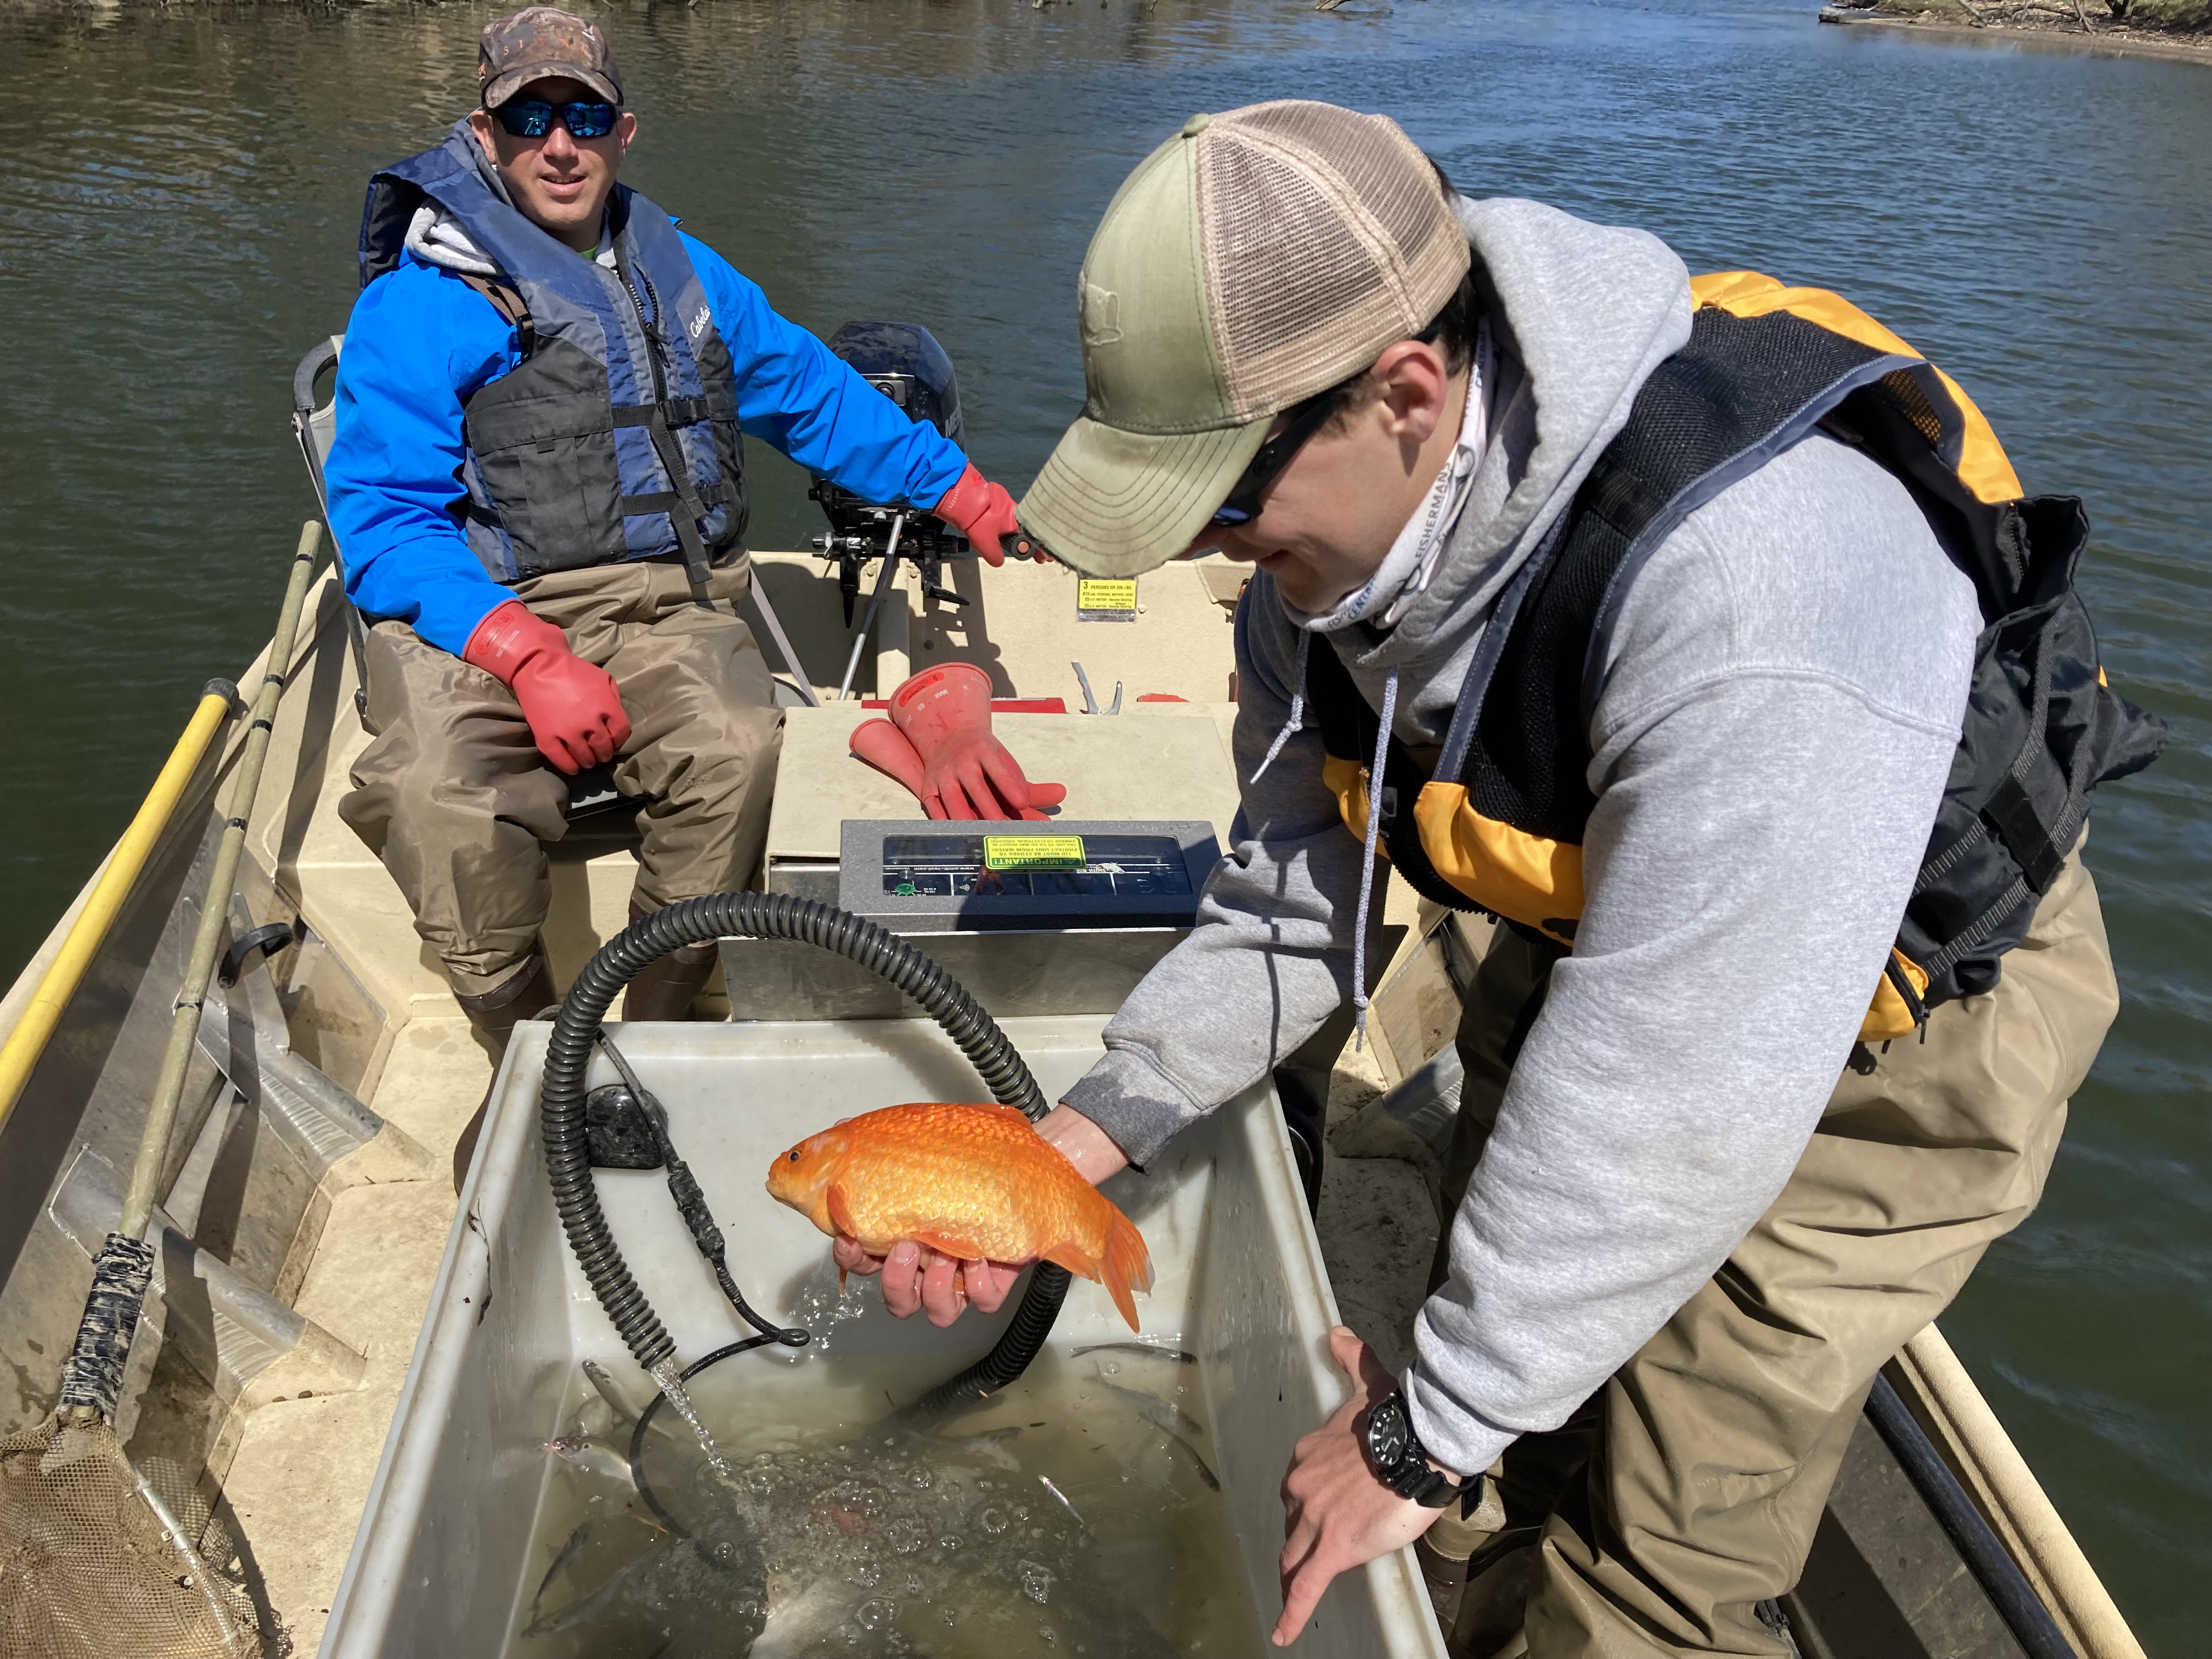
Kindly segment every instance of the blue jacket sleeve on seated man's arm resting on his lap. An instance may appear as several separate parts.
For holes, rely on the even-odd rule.
[[[460,407],[520,354],[491,303],[429,265],[405,263],[354,301],[338,354],[338,411],[323,484],[345,597],[451,650],[513,595],[460,531]]]

